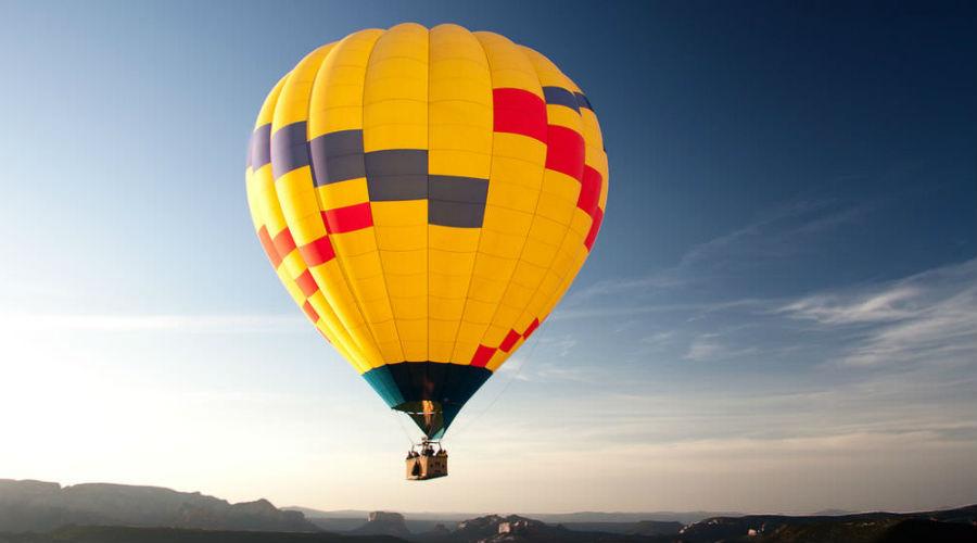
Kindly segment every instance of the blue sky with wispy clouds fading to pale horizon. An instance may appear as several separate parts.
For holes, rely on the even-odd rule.
[[[0,477],[402,510],[977,501],[973,3],[0,17],[0,420],[23,443]],[[278,77],[403,21],[549,55],[594,103],[611,173],[592,258],[429,485],[398,479],[398,422],[278,286],[243,191]]]

